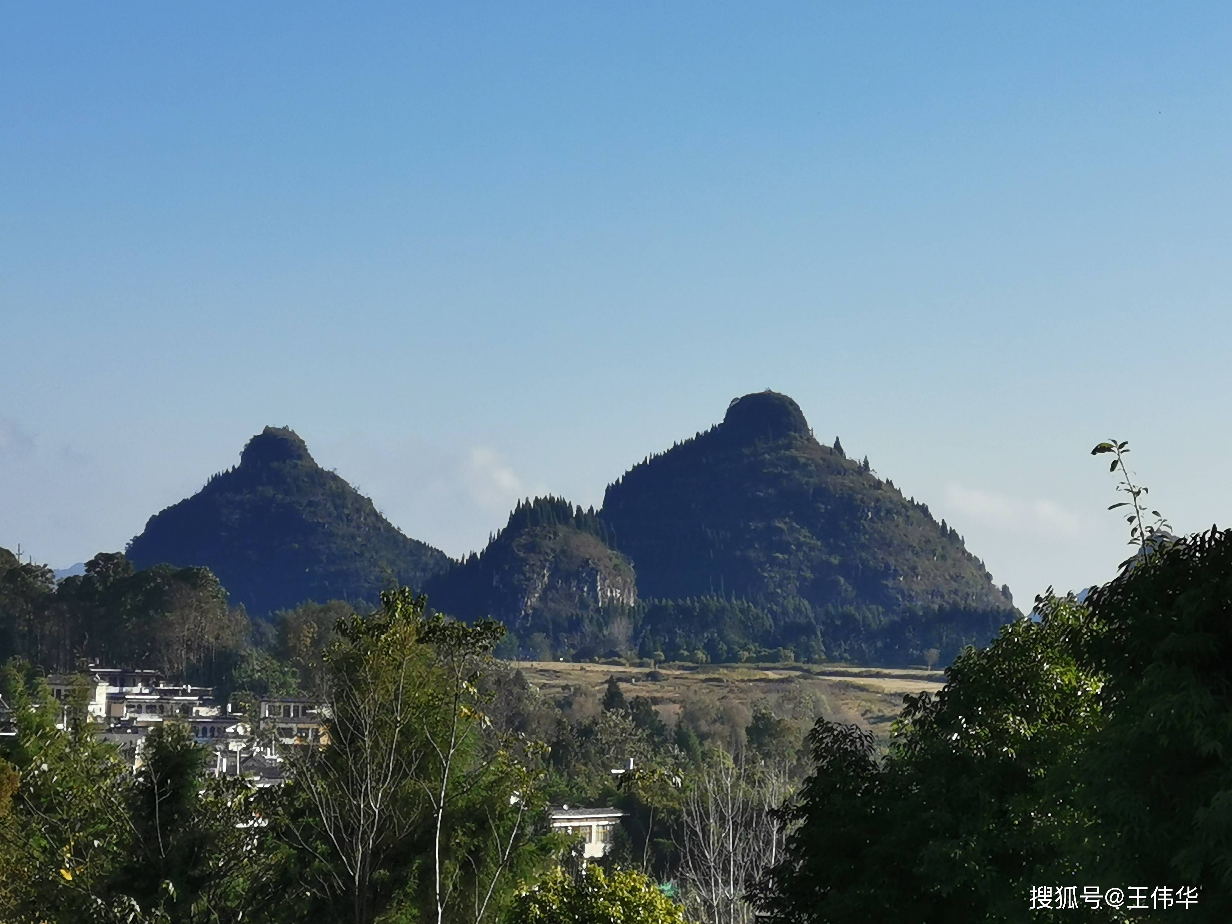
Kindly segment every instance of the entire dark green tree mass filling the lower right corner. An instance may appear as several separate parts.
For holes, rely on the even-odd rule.
[[[909,699],[887,754],[819,722],[787,853],[758,890],[771,918],[1141,919],[1061,898],[1029,914],[1047,887],[1228,920],[1232,532],[1142,549],[1084,602],[1042,599],[965,652],[939,696]],[[1196,903],[1158,903],[1178,890]]]

